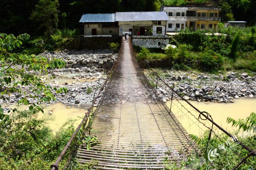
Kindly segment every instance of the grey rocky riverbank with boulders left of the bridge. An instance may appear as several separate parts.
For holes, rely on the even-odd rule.
[[[48,60],[61,58],[66,62],[65,68],[48,70],[48,75],[37,73],[47,85],[67,88],[66,94],[55,93],[56,100],[46,103],[46,106],[53,103],[63,103],[67,106],[75,105],[84,108],[91,105],[95,90],[105,82],[106,70],[113,66],[118,56],[110,50],[65,50],[44,52],[40,55],[47,57]],[[31,92],[28,87],[21,88],[24,88],[27,93],[26,97],[29,97]],[[9,103],[16,103],[24,97],[24,95],[11,94]],[[28,100],[31,103],[37,102],[34,98],[28,98]],[[3,101],[0,101],[0,103],[3,103]]]

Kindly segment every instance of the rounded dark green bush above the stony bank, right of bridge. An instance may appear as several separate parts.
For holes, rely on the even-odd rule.
[[[204,71],[216,71],[222,67],[224,58],[212,50],[199,53],[199,67]]]

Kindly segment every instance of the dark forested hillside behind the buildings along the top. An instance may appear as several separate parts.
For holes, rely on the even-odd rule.
[[[80,28],[79,19],[82,13],[111,13],[117,11],[159,11],[163,5],[217,5],[222,8],[223,21],[246,21],[250,26],[256,22],[256,0],[39,0],[44,12],[37,12],[31,16],[38,4],[36,0],[1,0],[0,3],[0,32],[15,35],[29,33],[43,35],[42,20],[48,11],[57,13],[55,25],[59,29]],[[40,8],[40,7],[39,7]],[[53,17],[54,18],[54,17]],[[47,24],[47,23],[45,23]],[[55,29],[55,28],[54,28]]]

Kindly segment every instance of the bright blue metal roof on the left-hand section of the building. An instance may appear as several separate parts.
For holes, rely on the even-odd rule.
[[[115,22],[114,13],[84,13],[79,22]]]

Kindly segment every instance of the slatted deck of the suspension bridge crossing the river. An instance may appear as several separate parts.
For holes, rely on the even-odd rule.
[[[91,150],[86,143],[79,147],[76,160],[81,164],[97,162],[95,169],[163,169],[166,160],[178,163],[195,152],[175,115],[142,83],[132,52],[123,40],[92,123],[91,136],[100,143]]]

